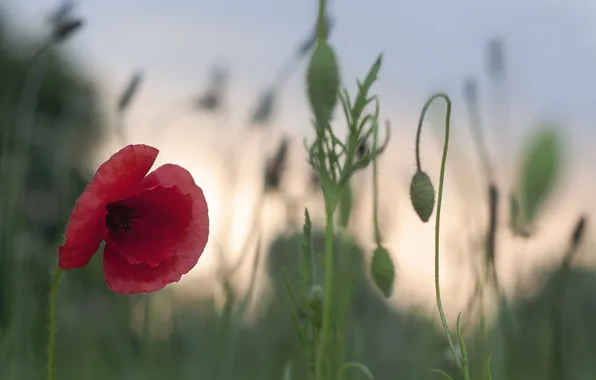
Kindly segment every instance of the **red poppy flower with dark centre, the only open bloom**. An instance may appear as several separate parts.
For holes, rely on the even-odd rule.
[[[129,145],[103,163],[77,199],[58,266],[86,266],[105,241],[105,281],[116,293],[143,293],[177,282],[209,238],[207,202],[188,171],[166,164],[149,175],[159,151]]]

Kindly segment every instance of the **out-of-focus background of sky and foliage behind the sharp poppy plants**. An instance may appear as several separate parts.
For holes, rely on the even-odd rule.
[[[189,169],[209,203],[210,240],[195,269],[157,294],[110,293],[100,255],[66,273],[57,378],[306,376],[281,270],[297,266],[305,207],[323,226],[303,144],[313,138],[304,75],[316,6],[0,3],[0,380],[44,374],[57,245],[95,169],[130,143],[159,148],[156,165]],[[454,108],[441,284],[449,321],[463,312],[474,378],[489,354],[494,379],[596,378],[596,3],[332,1],[329,17],[350,94],[383,54],[373,93],[391,124],[380,219],[396,286],[384,299],[369,280],[366,169],[338,221],[346,357],[376,379],[456,375],[434,298],[434,221],[420,222],[408,194],[421,107],[445,91]],[[47,43],[79,19],[80,30]],[[433,105],[423,131],[435,185],[445,110]],[[334,123],[345,130],[340,111]]]

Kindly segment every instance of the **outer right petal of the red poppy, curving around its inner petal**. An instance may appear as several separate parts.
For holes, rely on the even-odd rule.
[[[203,253],[209,238],[209,212],[205,196],[190,173],[180,166],[167,164],[150,173],[142,188],[175,186],[193,200],[192,219],[178,241],[176,252],[158,266],[131,264],[119,252],[106,246],[103,259],[105,280],[115,293],[133,294],[154,292],[177,282],[188,273]]]

